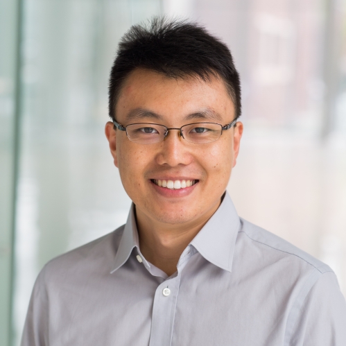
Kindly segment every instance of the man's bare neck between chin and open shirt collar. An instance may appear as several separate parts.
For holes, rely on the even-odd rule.
[[[177,271],[180,256],[218,209],[220,202],[206,214],[189,223],[167,224],[149,218],[136,209],[139,247],[147,261],[168,276]]]

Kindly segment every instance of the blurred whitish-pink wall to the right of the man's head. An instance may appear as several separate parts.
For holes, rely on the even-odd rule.
[[[227,42],[241,73],[239,215],[328,263],[346,295],[346,1],[164,3]]]

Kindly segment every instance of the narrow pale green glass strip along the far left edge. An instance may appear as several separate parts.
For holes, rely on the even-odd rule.
[[[0,345],[10,345],[19,1],[0,1]]]

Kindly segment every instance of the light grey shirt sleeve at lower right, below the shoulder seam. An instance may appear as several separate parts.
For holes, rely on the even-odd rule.
[[[346,301],[333,272],[322,274],[306,295],[289,345],[346,345]]]

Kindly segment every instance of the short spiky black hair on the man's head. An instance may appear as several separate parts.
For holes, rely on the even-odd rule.
[[[210,81],[211,76],[220,77],[234,103],[236,119],[241,115],[240,78],[230,49],[199,24],[153,17],[147,24],[131,26],[119,43],[110,72],[112,119],[121,87],[137,68],[177,79],[196,76]]]

